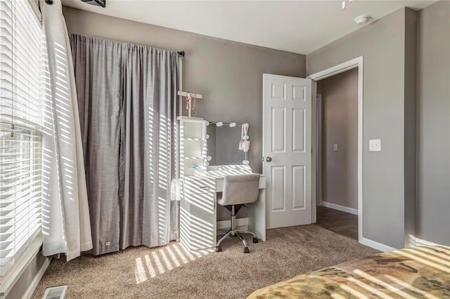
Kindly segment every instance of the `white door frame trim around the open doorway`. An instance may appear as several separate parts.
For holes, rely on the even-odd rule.
[[[361,243],[363,241],[363,56],[359,56],[352,60],[342,62],[339,65],[329,67],[328,69],[323,69],[320,72],[311,74],[307,79],[312,80],[312,173],[311,173],[311,219],[312,222],[316,222],[316,202],[317,202],[317,188],[319,187],[319,182],[316,181],[316,171],[317,171],[317,103],[316,103],[316,91],[317,91],[317,81],[326,79],[328,77],[334,76],[335,74],[340,74],[342,72],[348,71],[350,69],[358,69],[358,241]]]

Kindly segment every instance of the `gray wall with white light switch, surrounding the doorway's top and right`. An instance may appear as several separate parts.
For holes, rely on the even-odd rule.
[[[364,55],[363,235],[404,246],[405,32],[415,12],[401,8],[307,55],[307,75]],[[407,82],[415,84],[416,82]],[[382,152],[368,152],[369,139]],[[412,215],[414,217],[414,215]]]

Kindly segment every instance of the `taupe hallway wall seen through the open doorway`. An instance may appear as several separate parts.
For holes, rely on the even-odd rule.
[[[319,81],[317,92],[322,95],[321,199],[357,209],[358,69]]]

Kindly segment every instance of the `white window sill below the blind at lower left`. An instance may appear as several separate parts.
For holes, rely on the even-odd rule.
[[[14,284],[20,279],[23,272],[30,265],[42,246],[42,237],[39,235],[30,242],[23,255],[17,259],[17,263],[11,267],[3,277],[0,277],[0,298],[6,297]]]

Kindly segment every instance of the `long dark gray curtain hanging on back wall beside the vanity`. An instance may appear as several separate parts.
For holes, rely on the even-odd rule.
[[[70,34],[94,248],[176,239],[178,54]]]

